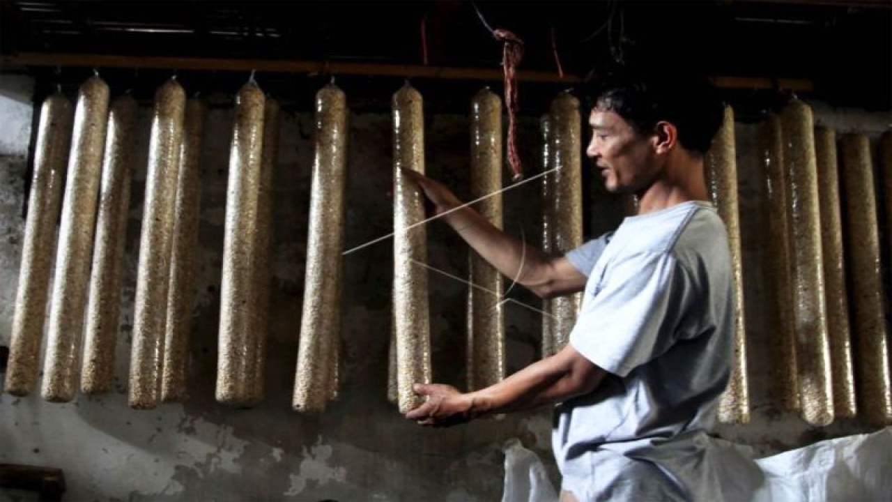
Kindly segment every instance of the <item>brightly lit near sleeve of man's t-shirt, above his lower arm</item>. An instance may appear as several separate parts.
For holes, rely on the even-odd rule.
[[[687,310],[690,277],[665,253],[630,255],[609,266],[605,282],[587,298],[570,344],[624,377],[672,347],[678,315]]]

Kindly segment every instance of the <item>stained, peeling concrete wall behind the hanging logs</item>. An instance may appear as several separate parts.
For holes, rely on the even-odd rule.
[[[21,214],[28,166],[32,105],[28,79],[0,77],[0,345],[8,345],[21,261]],[[312,158],[307,113],[283,113],[274,201],[274,277],[267,397],[253,409],[214,401],[220,262],[232,113],[212,107],[202,160],[201,253],[195,289],[190,396],[183,404],[152,411],[127,406],[126,385],[139,227],[145,188],[150,109],[141,111],[138,160],[130,204],[126,277],[122,291],[116,386],[102,397],[78,396],[50,404],[38,396],[0,394],[0,463],[61,467],[70,500],[251,500],[318,501],[498,500],[502,445],[519,438],[549,464],[550,417],[543,411],[484,420],[449,430],[427,430],[401,417],[385,398],[390,337],[392,243],[384,241],[345,259],[343,382],[341,397],[323,414],[291,410],[293,370],[303,296],[303,266]],[[822,110],[840,130],[876,133],[888,114]],[[842,117],[842,118],[840,118]],[[346,246],[392,231],[390,116],[351,116]],[[840,125],[841,124],[841,125]],[[467,119],[438,115],[426,121],[428,172],[467,198]],[[537,121],[521,129],[524,158],[536,158]],[[765,241],[764,188],[755,162],[746,160],[755,127],[738,128],[740,205],[746,267],[747,330],[753,421],[723,426],[726,439],[760,453],[795,448],[816,439],[870,431],[857,421],[814,429],[776,410],[760,380],[764,374]],[[532,164],[532,163],[531,163]],[[530,165],[530,172],[538,171]],[[536,182],[506,193],[506,229],[538,241],[540,196]],[[592,188],[592,193],[599,192]],[[592,202],[591,228],[616,222],[614,201]],[[467,269],[465,247],[444,225],[428,226],[428,263],[456,275]],[[590,229],[591,230],[591,229]],[[591,231],[590,231],[591,233]],[[434,375],[462,384],[464,286],[437,274],[430,279]],[[519,301],[538,305],[523,291]],[[514,294],[512,294],[514,296]],[[509,305],[509,371],[533,361],[540,319]],[[2,492],[0,492],[2,493]],[[12,494],[18,497],[21,494]],[[2,497],[0,497],[2,498]]]

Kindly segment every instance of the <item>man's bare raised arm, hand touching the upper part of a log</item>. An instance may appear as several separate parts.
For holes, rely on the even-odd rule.
[[[536,247],[497,229],[470,206],[461,207],[458,197],[439,181],[418,172],[404,170],[420,187],[442,220],[458,232],[483,259],[509,279],[540,297],[556,297],[581,291],[586,277],[563,256],[552,257]]]

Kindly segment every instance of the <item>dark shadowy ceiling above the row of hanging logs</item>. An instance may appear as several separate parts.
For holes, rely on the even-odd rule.
[[[410,65],[406,76],[425,66],[500,70],[501,45],[485,21],[524,40],[521,71],[548,76],[547,82],[522,81],[527,104],[574,79],[597,78],[619,61],[654,63],[670,78],[685,66],[730,77],[723,85],[729,95],[752,98],[756,106],[770,104],[773,95],[786,90],[785,82],[794,81],[800,94],[833,105],[892,108],[892,0],[0,0],[0,5],[2,71],[28,72],[46,85],[75,87],[98,67],[110,82],[146,96],[170,71],[194,88],[231,91],[246,78],[245,64],[250,66],[227,64],[234,60],[363,63],[372,66],[335,76],[357,103],[380,105],[403,78],[394,65]],[[95,58],[109,55],[128,57],[113,64]],[[195,59],[183,63],[181,58],[210,63],[196,66]],[[564,81],[558,78],[558,61]],[[161,70],[165,64],[169,68]],[[298,101],[303,91],[328,78],[319,73],[326,71],[273,64],[258,71],[257,79],[268,92]],[[425,97],[439,103],[488,80],[412,78]]]

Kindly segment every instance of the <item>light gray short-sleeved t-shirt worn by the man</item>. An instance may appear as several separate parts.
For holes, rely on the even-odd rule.
[[[563,489],[580,501],[720,500],[705,430],[731,374],[731,254],[712,205],[626,218],[566,255],[588,276],[570,344],[607,371],[556,408]]]

